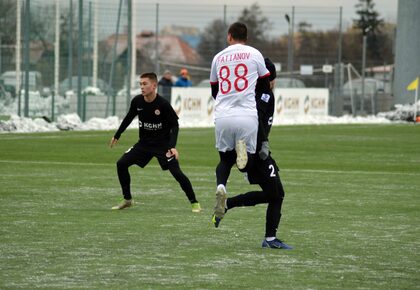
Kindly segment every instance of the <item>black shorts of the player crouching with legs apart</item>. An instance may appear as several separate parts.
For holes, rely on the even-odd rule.
[[[171,166],[179,165],[175,156],[166,156],[166,153],[165,149],[145,148],[136,143],[121,156],[121,159],[129,164],[137,164],[141,168],[144,168],[153,157],[156,157],[162,170],[168,170]]]

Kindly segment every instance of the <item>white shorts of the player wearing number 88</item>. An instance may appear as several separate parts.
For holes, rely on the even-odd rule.
[[[214,121],[216,148],[219,152],[235,149],[238,140],[244,140],[246,150],[255,153],[257,148],[258,118],[254,116],[234,116],[217,118]]]

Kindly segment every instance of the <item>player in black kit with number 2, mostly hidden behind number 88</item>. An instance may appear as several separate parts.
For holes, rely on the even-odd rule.
[[[284,189],[280,180],[279,168],[276,161],[271,157],[268,146],[268,134],[273,123],[274,94],[272,88],[276,78],[276,69],[268,58],[265,59],[265,65],[270,71],[270,92],[264,94],[260,90],[260,85],[257,82],[256,103],[259,122],[257,138],[258,157],[255,158],[252,166],[247,169],[249,183],[258,184],[262,190],[250,191],[229,198],[226,193],[217,196],[212,222],[217,228],[228,210],[235,207],[255,206],[257,204],[267,203],[265,238],[262,241],[262,247],[291,250],[293,247],[276,237],[281,218]],[[232,158],[230,163],[233,165],[234,162],[235,159]]]

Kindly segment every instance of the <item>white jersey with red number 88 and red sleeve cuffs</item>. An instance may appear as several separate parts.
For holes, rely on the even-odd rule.
[[[219,84],[214,118],[257,116],[255,85],[270,73],[262,54],[255,48],[230,45],[213,58],[210,82]]]

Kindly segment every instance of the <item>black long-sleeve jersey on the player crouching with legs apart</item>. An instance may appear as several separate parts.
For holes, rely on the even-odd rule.
[[[175,148],[178,138],[178,116],[167,100],[157,95],[148,103],[143,95],[131,100],[130,109],[114,137],[119,139],[135,117],[139,119],[139,144],[153,150]]]

